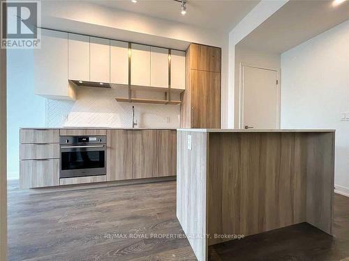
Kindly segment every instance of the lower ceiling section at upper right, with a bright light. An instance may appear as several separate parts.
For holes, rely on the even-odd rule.
[[[291,0],[269,17],[238,46],[263,52],[283,53],[349,19],[349,1]]]

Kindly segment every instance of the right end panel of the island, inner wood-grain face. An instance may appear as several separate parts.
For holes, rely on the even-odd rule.
[[[306,175],[306,222],[332,234],[334,133],[309,134]]]

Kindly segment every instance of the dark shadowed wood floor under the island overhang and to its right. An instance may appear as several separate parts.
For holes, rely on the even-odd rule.
[[[334,237],[300,223],[209,247],[209,260],[349,261],[349,198],[334,196]]]

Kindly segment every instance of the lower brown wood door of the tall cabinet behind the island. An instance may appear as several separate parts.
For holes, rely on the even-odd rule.
[[[191,127],[221,127],[221,74],[191,70]]]

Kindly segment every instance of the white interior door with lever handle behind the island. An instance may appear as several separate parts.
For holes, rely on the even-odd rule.
[[[240,127],[279,129],[278,71],[242,65]]]

